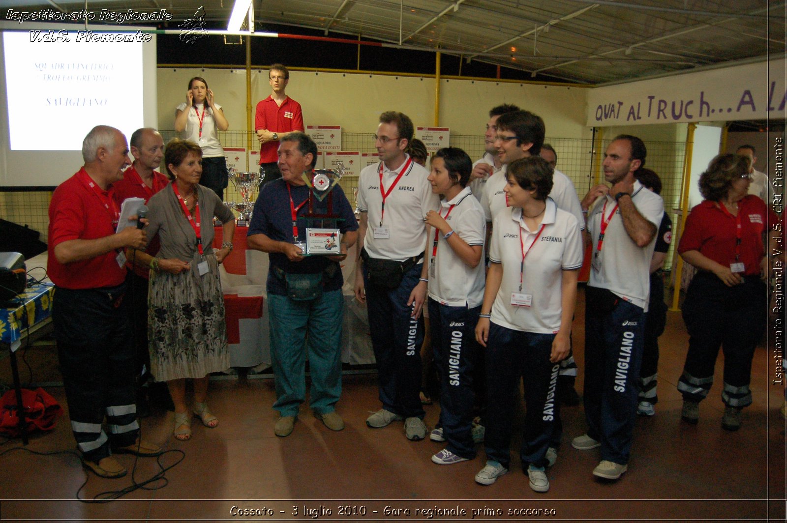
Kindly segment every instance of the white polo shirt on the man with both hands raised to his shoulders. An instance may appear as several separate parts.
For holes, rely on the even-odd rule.
[[[645,189],[640,182],[634,182],[634,193],[631,197],[637,211],[654,224],[658,229],[664,214],[664,201],[661,197]],[[604,202],[606,210],[604,211]],[[596,260],[598,249],[598,236],[601,230],[601,212],[608,218],[612,208],[615,208],[615,197],[608,194],[600,198],[588,215],[588,232],[593,242],[593,260]],[[608,289],[623,300],[630,301],[648,311],[648,296],[650,294],[650,259],[653,248],[656,246],[656,234],[645,247],[637,247],[623,227],[623,217],[620,209],[615,209],[615,215],[604,232],[604,242],[598,255],[598,262],[591,263],[590,280],[588,285]],[[599,266],[597,268],[597,265]]]

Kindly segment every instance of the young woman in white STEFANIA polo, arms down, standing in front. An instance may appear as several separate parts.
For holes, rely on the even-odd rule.
[[[527,415],[519,457],[530,488],[549,490],[545,467],[560,416],[560,360],[568,354],[571,317],[582,267],[574,215],[548,197],[552,168],[541,157],[508,165],[508,208],[495,216],[486,291],[475,328],[485,349],[486,466],[475,475],[493,484],[508,472],[515,394],[523,378]]]

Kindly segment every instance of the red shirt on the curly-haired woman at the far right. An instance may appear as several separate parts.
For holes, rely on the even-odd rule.
[[[745,196],[738,202],[737,216],[741,219],[741,245],[738,252],[745,275],[759,275],[763,259],[763,232],[778,223],[776,213],[756,196]],[[700,254],[730,267],[735,262],[737,218],[725,212],[715,201],[705,200],[696,205],[686,217],[686,224],[678,244],[678,253],[699,251]]]

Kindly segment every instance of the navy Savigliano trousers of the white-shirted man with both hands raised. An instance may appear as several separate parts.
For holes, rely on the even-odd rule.
[[[601,459],[626,465],[637,414],[645,311],[588,286],[585,305],[585,417]]]

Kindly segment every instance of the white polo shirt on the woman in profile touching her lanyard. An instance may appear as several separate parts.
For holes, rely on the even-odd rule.
[[[453,206],[453,207],[452,207]],[[446,216],[446,213],[450,214]],[[440,201],[440,215],[445,218],[453,234],[462,238],[467,245],[484,245],[486,239],[486,219],[481,204],[473,197],[470,187],[465,187],[451,201]],[[430,246],[427,249],[430,263],[434,249],[435,229],[429,233]],[[434,269],[429,267],[429,296],[440,304],[451,307],[474,308],[483,303],[484,264],[470,267],[456,255],[449,241],[438,234],[437,255]]]

